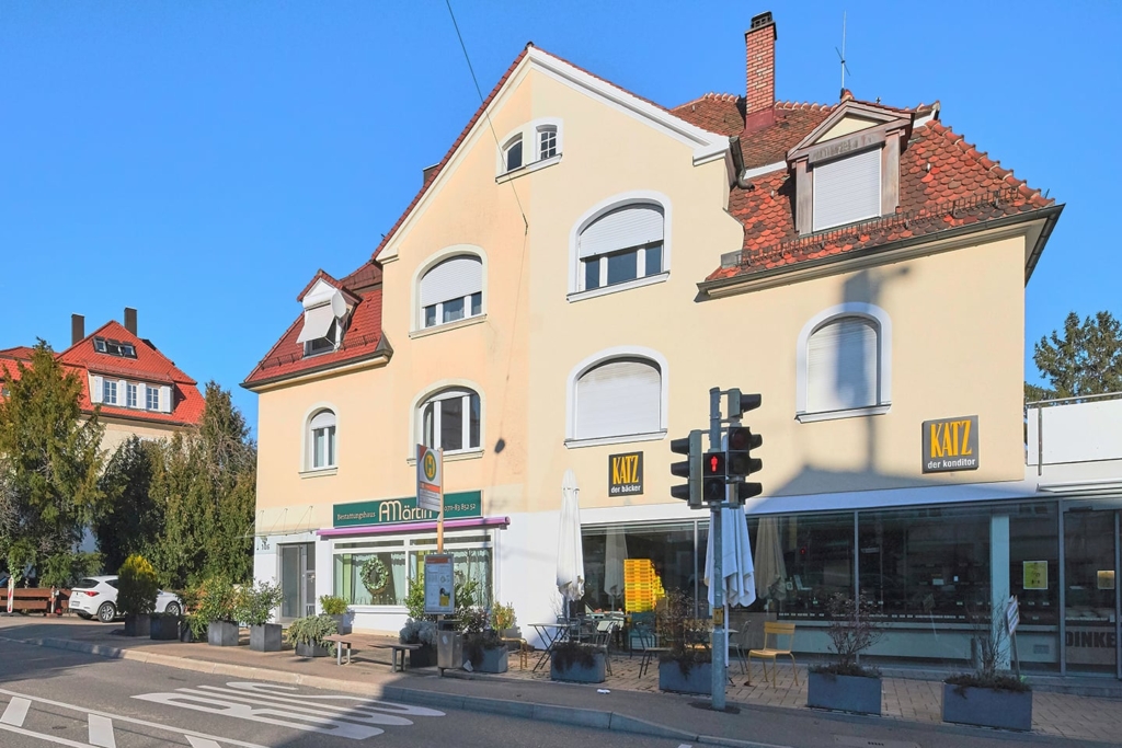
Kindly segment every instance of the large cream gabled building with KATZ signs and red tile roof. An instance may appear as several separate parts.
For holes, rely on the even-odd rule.
[[[709,515],[671,498],[670,443],[738,387],[763,399],[754,585],[804,622],[797,648],[825,650],[825,602],[859,578],[895,656],[964,657],[965,607],[1015,589],[1046,611],[1031,656],[1058,662],[1058,601],[1011,570],[1058,532],[1022,384],[1063,206],[938,103],[778,101],[776,39],[753,18],[745,93],[671,109],[527,46],[371,259],[315,274],[243,384],[283,619],[333,593],[358,628],[402,625],[435,548],[417,444],[442,451],[444,543],[485,602],[552,619],[571,470],[585,603],[641,611],[631,558],[703,609]]]

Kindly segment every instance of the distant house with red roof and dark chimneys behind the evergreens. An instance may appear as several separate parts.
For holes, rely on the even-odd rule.
[[[29,366],[31,353],[26,345],[0,350],[0,369],[16,377],[17,362]],[[202,419],[204,400],[197,382],[137,334],[134,308],[125,310],[123,324],[110,321],[89,335],[85,318],[73,315],[71,345],[56,355],[82,382],[82,413],[100,408],[107,458],[131,435],[160,438]]]

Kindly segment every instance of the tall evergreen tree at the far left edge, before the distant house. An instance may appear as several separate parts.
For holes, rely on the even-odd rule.
[[[102,500],[102,426],[84,417],[82,384],[39,341],[30,366],[4,370],[0,398],[0,556],[13,545],[31,562],[70,554]]]

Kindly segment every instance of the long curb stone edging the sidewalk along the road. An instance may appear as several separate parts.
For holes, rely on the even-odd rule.
[[[524,701],[508,701],[504,699],[489,699],[487,696],[465,696],[436,691],[405,689],[402,686],[381,686],[378,684],[335,681],[320,675],[298,675],[296,673],[286,673],[285,671],[276,671],[264,667],[209,663],[205,661],[188,659],[186,657],[174,657],[172,655],[160,655],[147,652],[132,652],[120,647],[110,647],[102,644],[86,644],[84,641],[74,641],[70,639],[11,639],[0,636],[0,641],[30,644],[49,649],[65,649],[68,652],[96,655],[109,659],[129,659],[145,665],[174,667],[177,669],[194,671],[196,673],[206,673],[210,675],[229,675],[232,677],[255,678],[258,681],[283,683],[286,685],[303,685],[312,689],[341,691],[343,693],[352,693],[360,696],[392,699],[419,705],[444,707],[447,709],[471,709],[472,711],[505,714],[507,717],[519,717],[539,722],[579,724],[581,727],[590,727],[600,730],[646,735],[657,738],[687,740],[714,746],[728,746],[730,748],[785,748],[783,746],[753,742],[749,740],[699,736],[686,730],[665,727],[656,722],[649,722],[646,720],[638,719],[637,717],[628,717],[626,714],[619,714],[618,712],[607,712],[597,709],[562,707],[558,704],[539,704]]]

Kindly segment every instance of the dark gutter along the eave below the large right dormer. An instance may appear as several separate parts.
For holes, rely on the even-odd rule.
[[[953,229],[944,229],[930,234],[922,234],[919,237],[908,237],[907,239],[898,239],[884,244],[879,244],[876,247],[870,247],[867,249],[855,250],[850,252],[840,252],[838,255],[830,255],[829,257],[824,257],[818,260],[808,260],[804,262],[798,262],[795,265],[783,266],[779,268],[772,268],[769,270],[760,270],[758,273],[752,273],[751,275],[737,275],[730,278],[718,278],[716,280],[702,280],[698,284],[698,292],[702,297],[712,298],[715,296],[726,296],[736,293],[735,288],[737,286],[755,286],[760,281],[769,280],[782,276],[793,276],[799,273],[806,273],[809,270],[815,270],[819,268],[826,268],[839,262],[852,262],[856,258],[865,258],[876,255],[882,255],[885,252],[896,252],[902,249],[911,247],[920,247],[923,244],[929,244],[936,241],[947,241],[953,239],[958,239],[962,237],[967,237],[975,233],[981,233],[986,230],[1004,229],[1010,227],[1015,227],[1021,223],[1029,223],[1032,221],[1039,221],[1045,219],[1046,225],[1045,231],[1041,231],[1040,238],[1036,242],[1036,247],[1027,260],[1029,268],[1027,273],[1031,273],[1031,266],[1036,265],[1036,260],[1040,252],[1043,251],[1043,243],[1047,241],[1048,234],[1051,233],[1051,227],[1055,227],[1056,220],[1063,212],[1063,205],[1052,205],[1050,207],[1042,207],[1040,210],[1030,211],[1028,213],[1019,213],[1017,215],[1006,215],[1000,219],[994,219],[991,221],[983,221],[980,223],[971,223],[967,225],[955,227]],[[1029,265],[1031,264],[1031,265]],[[790,283],[794,283],[792,278]],[[745,288],[747,290],[754,290],[753,288]]]

